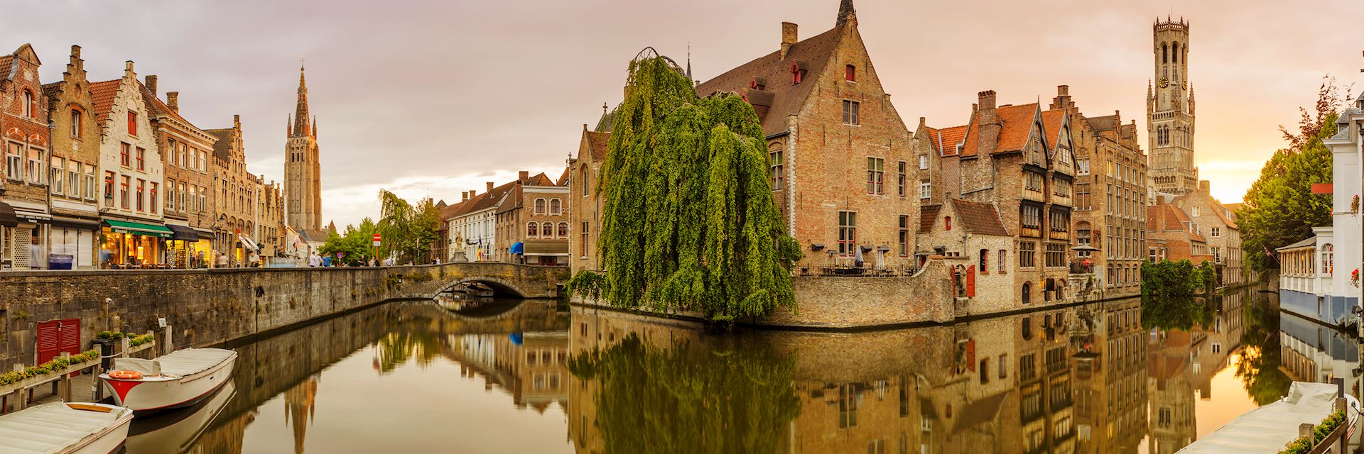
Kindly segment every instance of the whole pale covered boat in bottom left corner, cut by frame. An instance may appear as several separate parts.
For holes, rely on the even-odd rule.
[[[53,402],[0,416],[0,453],[109,454],[128,438],[132,410]]]

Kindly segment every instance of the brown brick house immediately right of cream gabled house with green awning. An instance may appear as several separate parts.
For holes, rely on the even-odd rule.
[[[168,91],[161,101],[157,76],[142,83],[155,142],[165,170],[165,221],[175,236],[166,241],[166,264],[176,269],[207,267],[213,263],[213,164],[209,160],[217,136],[180,116],[180,93]]]

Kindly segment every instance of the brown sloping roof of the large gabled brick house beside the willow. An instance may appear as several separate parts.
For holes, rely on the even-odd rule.
[[[743,94],[752,89],[754,78],[762,78],[767,82],[762,91],[769,91],[772,97],[771,104],[758,116],[762,121],[762,134],[773,135],[783,132],[787,128],[787,116],[799,113],[810,91],[820,85],[818,76],[832,59],[833,49],[837,46],[839,37],[843,35],[843,27],[846,26],[846,23],[840,23],[828,31],[798,41],[790,48],[786,59],[782,59],[780,50],[773,50],[753,61],[741,64],[711,80],[702,82],[696,87],[696,93],[701,97],[720,91]],[[792,65],[802,65],[806,71],[805,79],[801,83],[794,83],[792,80]],[[758,97],[761,100],[754,100]],[[767,94],[760,94],[749,100],[765,102],[765,97]],[[597,125],[597,131],[603,131],[600,124]]]

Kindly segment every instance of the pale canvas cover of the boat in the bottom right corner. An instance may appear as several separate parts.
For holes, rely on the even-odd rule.
[[[1284,399],[1237,416],[1180,454],[1274,454],[1297,439],[1303,423],[1320,424],[1334,410],[1335,384],[1293,382]],[[1359,401],[1348,398],[1359,408]],[[1346,412],[1346,414],[1353,412]],[[1353,420],[1352,420],[1353,423]]]

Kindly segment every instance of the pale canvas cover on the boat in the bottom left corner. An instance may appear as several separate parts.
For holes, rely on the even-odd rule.
[[[61,453],[86,438],[98,436],[132,410],[78,410],[64,402],[42,404],[0,416],[0,453]]]

